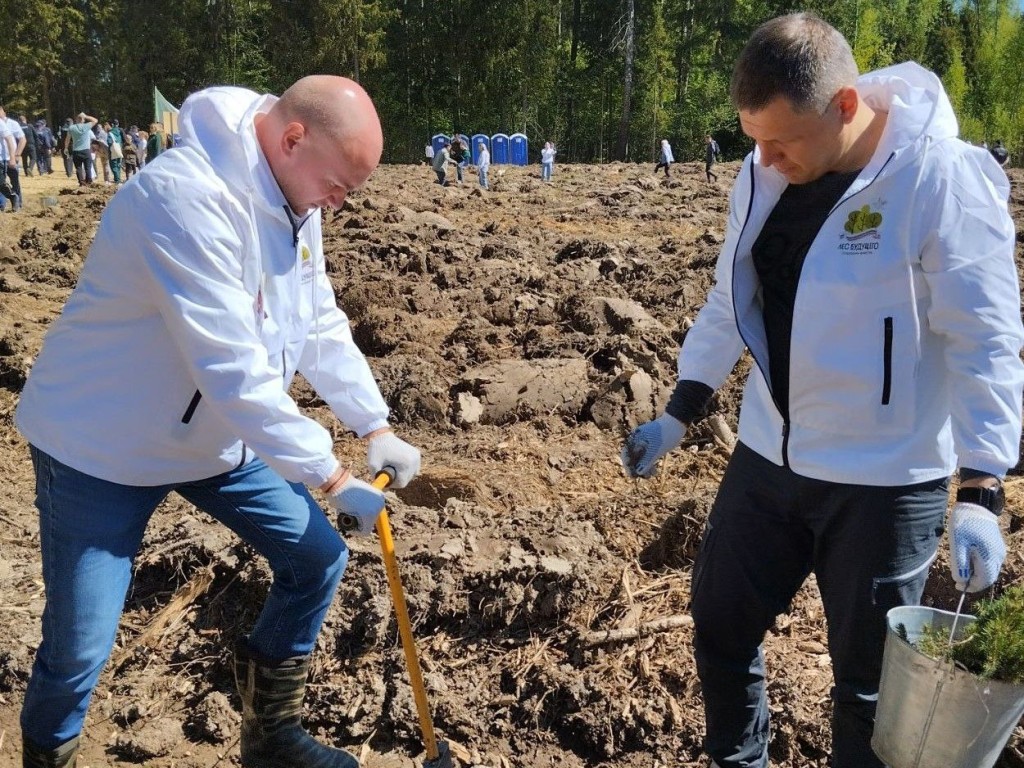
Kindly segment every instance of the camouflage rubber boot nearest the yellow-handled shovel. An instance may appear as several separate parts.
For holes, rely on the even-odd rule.
[[[244,768],[359,768],[355,756],[325,746],[302,727],[309,656],[260,658],[245,640],[234,645],[242,696]]]

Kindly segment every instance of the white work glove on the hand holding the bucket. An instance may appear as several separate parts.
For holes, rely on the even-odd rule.
[[[999,519],[984,507],[957,502],[949,515],[949,570],[956,589],[981,592],[995,584],[1007,557]]]

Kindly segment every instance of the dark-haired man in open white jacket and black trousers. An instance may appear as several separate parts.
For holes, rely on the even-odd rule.
[[[768,764],[761,643],[813,572],[833,765],[878,768],[886,612],[921,599],[953,472],[953,580],[986,589],[1006,555],[1000,478],[1024,383],[1009,186],[956,138],[937,77],[906,63],[858,78],[813,14],[755,32],[731,96],[756,147],[717,282],[666,413],[630,434],[623,462],[650,475],[750,350],[739,442],[693,567],[705,749],[720,768]]]

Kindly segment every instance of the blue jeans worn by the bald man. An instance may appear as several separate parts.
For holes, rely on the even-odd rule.
[[[273,584],[249,637],[253,649],[272,659],[312,650],[348,549],[305,487],[258,459],[195,482],[121,485],[31,450],[46,607],[22,729],[40,748],[54,749],[81,732],[114,647],[142,534],[172,490],[269,562]]]

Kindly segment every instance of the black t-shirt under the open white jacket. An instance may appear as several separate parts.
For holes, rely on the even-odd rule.
[[[763,288],[771,389],[786,420],[793,308],[804,258],[828,213],[859,173],[826,173],[806,184],[790,184],[754,242],[754,266]]]

